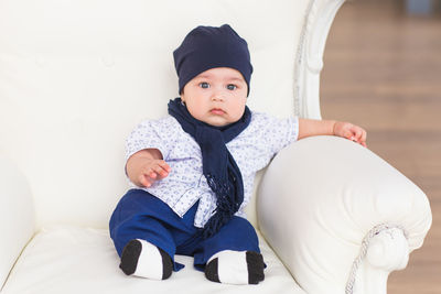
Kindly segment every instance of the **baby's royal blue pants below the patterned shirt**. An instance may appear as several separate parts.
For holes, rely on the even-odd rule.
[[[132,239],[146,240],[165,251],[174,271],[184,265],[174,254],[194,257],[194,266],[204,270],[206,262],[223,250],[260,253],[256,231],[248,220],[234,216],[216,235],[202,239],[193,226],[196,203],[182,218],[165,203],[142,189],[130,189],[118,203],[110,218],[110,237],[119,255]]]

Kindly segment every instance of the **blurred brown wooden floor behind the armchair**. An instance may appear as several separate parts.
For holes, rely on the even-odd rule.
[[[368,148],[428,195],[433,225],[389,294],[441,294],[441,13],[410,17],[400,0],[346,2],[325,48],[323,118],[368,132]]]

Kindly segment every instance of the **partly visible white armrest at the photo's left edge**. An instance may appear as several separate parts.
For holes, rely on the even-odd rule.
[[[30,186],[12,161],[0,156],[0,288],[32,238],[35,216]]]

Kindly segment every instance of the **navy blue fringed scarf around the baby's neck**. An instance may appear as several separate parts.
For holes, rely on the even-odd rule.
[[[241,173],[225,144],[248,127],[251,112],[245,107],[244,116],[238,121],[225,127],[213,127],[193,118],[181,102],[181,98],[175,98],[169,102],[169,113],[200,144],[203,173],[217,197],[215,214],[202,231],[203,238],[206,239],[218,232],[244,202]]]

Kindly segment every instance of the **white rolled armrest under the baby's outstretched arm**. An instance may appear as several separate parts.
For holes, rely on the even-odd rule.
[[[257,215],[268,243],[308,293],[345,293],[374,228],[401,228],[408,254],[431,226],[429,202],[412,182],[368,149],[325,135],[300,140],[273,159]]]

